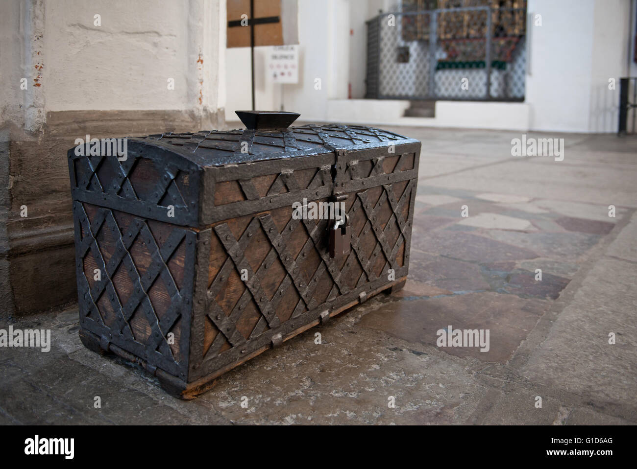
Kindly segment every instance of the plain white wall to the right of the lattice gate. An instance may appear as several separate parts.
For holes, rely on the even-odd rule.
[[[608,79],[626,76],[629,0],[529,0],[542,15],[531,33],[526,102],[531,129],[617,132],[616,90]]]

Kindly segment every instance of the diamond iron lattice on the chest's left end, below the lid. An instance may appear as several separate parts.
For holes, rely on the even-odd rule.
[[[87,328],[96,333],[100,332],[100,326],[108,328],[113,342],[120,338],[124,342],[133,340],[140,343],[147,351],[146,358],[150,363],[169,361],[176,364],[179,349],[174,349],[177,353],[173,351],[167,336],[169,332],[176,332],[173,328],[187,308],[189,291],[187,282],[183,283],[180,290],[169,263],[182,243],[192,244],[192,234],[182,228],[169,227],[168,235],[160,243],[148,226],[148,221],[127,214],[116,216],[111,209],[101,207],[87,209],[80,202],[76,202],[75,216],[81,232],[76,246],[81,272],[78,276],[83,300],[81,313],[97,326],[97,329],[90,325]],[[118,218],[120,221],[125,220],[126,225],[122,226],[124,224]],[[112,241],[108,244],[98,241],[102,230],[110,232],[109,239]],[[134,248],[138,243],[145,246],[147,259],[142,260],[135,255]],[[89,276],[85,272],[84,265],[89,261],[99,270],[95,277],[89,277],[94,272],[88,272]],[[118,283],[121,284],[116,278],[118,272],[125,272],[130,291],[123,293],[121,286],[117,288]],[[183,272],[180,275],[183,276]],[[150,294],[159,283],[167,295],[161,306],[153,304]],[[100,307],[104,296],[108,298],[108,309]],[[122,300],[124,297],[126,300]],[[107,314],[113,317],[106,319]],[[148,333],[135,333],[131,321],[136,314],[143,315],[150,328]],[[180,331],[175,335],[181,336]],[[161,358],[154,354],[159,354]]]

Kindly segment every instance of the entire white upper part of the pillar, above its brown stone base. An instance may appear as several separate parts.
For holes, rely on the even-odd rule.
[[[2,120],[17,127],[49,111],[224,107],[225,1],[11,0],[0,17]]]

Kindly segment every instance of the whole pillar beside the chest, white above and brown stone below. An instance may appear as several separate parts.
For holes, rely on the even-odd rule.
[[[0,318],[77,301],[75,139],[225,125],[225,19],[225,1],[1,3]]]

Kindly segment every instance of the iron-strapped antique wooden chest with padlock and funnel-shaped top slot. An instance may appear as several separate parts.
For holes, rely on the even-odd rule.
[[[181,398],[407,275],[419,141],[237,114],[68,152],[82,342]]]

